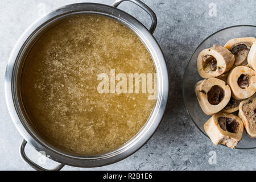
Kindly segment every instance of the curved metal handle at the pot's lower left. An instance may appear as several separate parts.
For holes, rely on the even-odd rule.
[[[22,157],[22,159],[24,160],[24,162],[26,162],[28,165],[30,165],[32,168],[36,169],[37,171],[59,171],[60,169],[62,169],[65,164],[59,164],[57,167],[53,168],[53,169],[46,169],[43,167],[38,166],[38,164],[32,162],[32,160],[28,159],[27,155],[25,154],[25,146],[27,144],[27,141],[23,139],[22,144],[20,144],[20,156]]]

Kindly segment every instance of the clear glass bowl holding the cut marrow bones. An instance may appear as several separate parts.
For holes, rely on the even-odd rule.
[[[243,37],[255,37],[256,38],[256,26],[240,25],[224,28],[208,36],[199,46],[188,61],[187,67],[185,68],[183,76],[183,99],[185,107],[190,115],[192,121],[199,128],[199,130],[208,137],[204,131],[204,123],[210,118],[210,116],[204,114],[203,110],[197,101],[195,94],[195,84],[199,80],[203,80],[197,72],[197,56],[203,49],[212,47],[213,44],[219,44],[224,46],[228,40],[233,38]],[[237,112],[238,113],[238,112]],[[237,114],[235,113],[235,114]],[[210,140],[209,140],[210,142]],[[243,131],[242,140],[238,143],[238,149],[252,149],[256,148],[256,139],[248,137]]]

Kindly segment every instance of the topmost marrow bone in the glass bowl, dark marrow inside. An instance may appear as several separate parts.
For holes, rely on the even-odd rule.
[[[247,64],[247,55],[255,40],[255,38],[237,38],[231,39],[225,44],[224,47],[229,49],[235,57],[235,66]]]

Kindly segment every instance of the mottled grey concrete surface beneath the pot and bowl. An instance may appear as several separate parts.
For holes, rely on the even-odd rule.
[[[4,76],[11,49],[32,22],[57,7],[78,0],[1,0],[0,1],[0,169],[31,170],[20,159],[22,137],[15,129],[4,98]],[[111,5],[113,0],[94,1]],[[230,150],[214,146],[196,128],[185,110],[181,82],[185,65],[197,45],[221,28],[236,24],[256,24],[256,1],[168,1],[144,0],[158,16],[155,38],[163,49],[170,72],[170,98],[164,119],[154,136],[134,155],[98,170],[256,170],[256,150]],[[212,9],[216,6],[216,14]],[[124,2],[120,9],[147,26],[150,18],[138,7]],[[26,149],[35,162],[44,157],[32,147]],[[216,154],[216,163],[213,156]],[[48,159],[47,167],[56,163]],[[65,170],[88,170],[64,167]]]

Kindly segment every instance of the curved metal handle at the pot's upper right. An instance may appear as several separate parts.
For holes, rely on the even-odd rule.
[[[158,19],[156,18],[156,15],[154,13],[154,11],[152,11],[150,9],[150,7],[148,7],[147,5],[145,5],[143,2],[139,1],[139,0],[116,0],[114,3],[113,3],[113,7],[117,7],[119,6],[123,1],[130,1],[130,2],[133,2],[135,5],[141,7],[144,11],[146,11],[146,13],[148,15],[150,15],[151,17],[151,20],[152,20],[152,23],[151,23],[151,27],[150,27],[150,33],[153,34],[154,31],[155,31],[155,28],[156,28],[156,24],[158,22]]]

